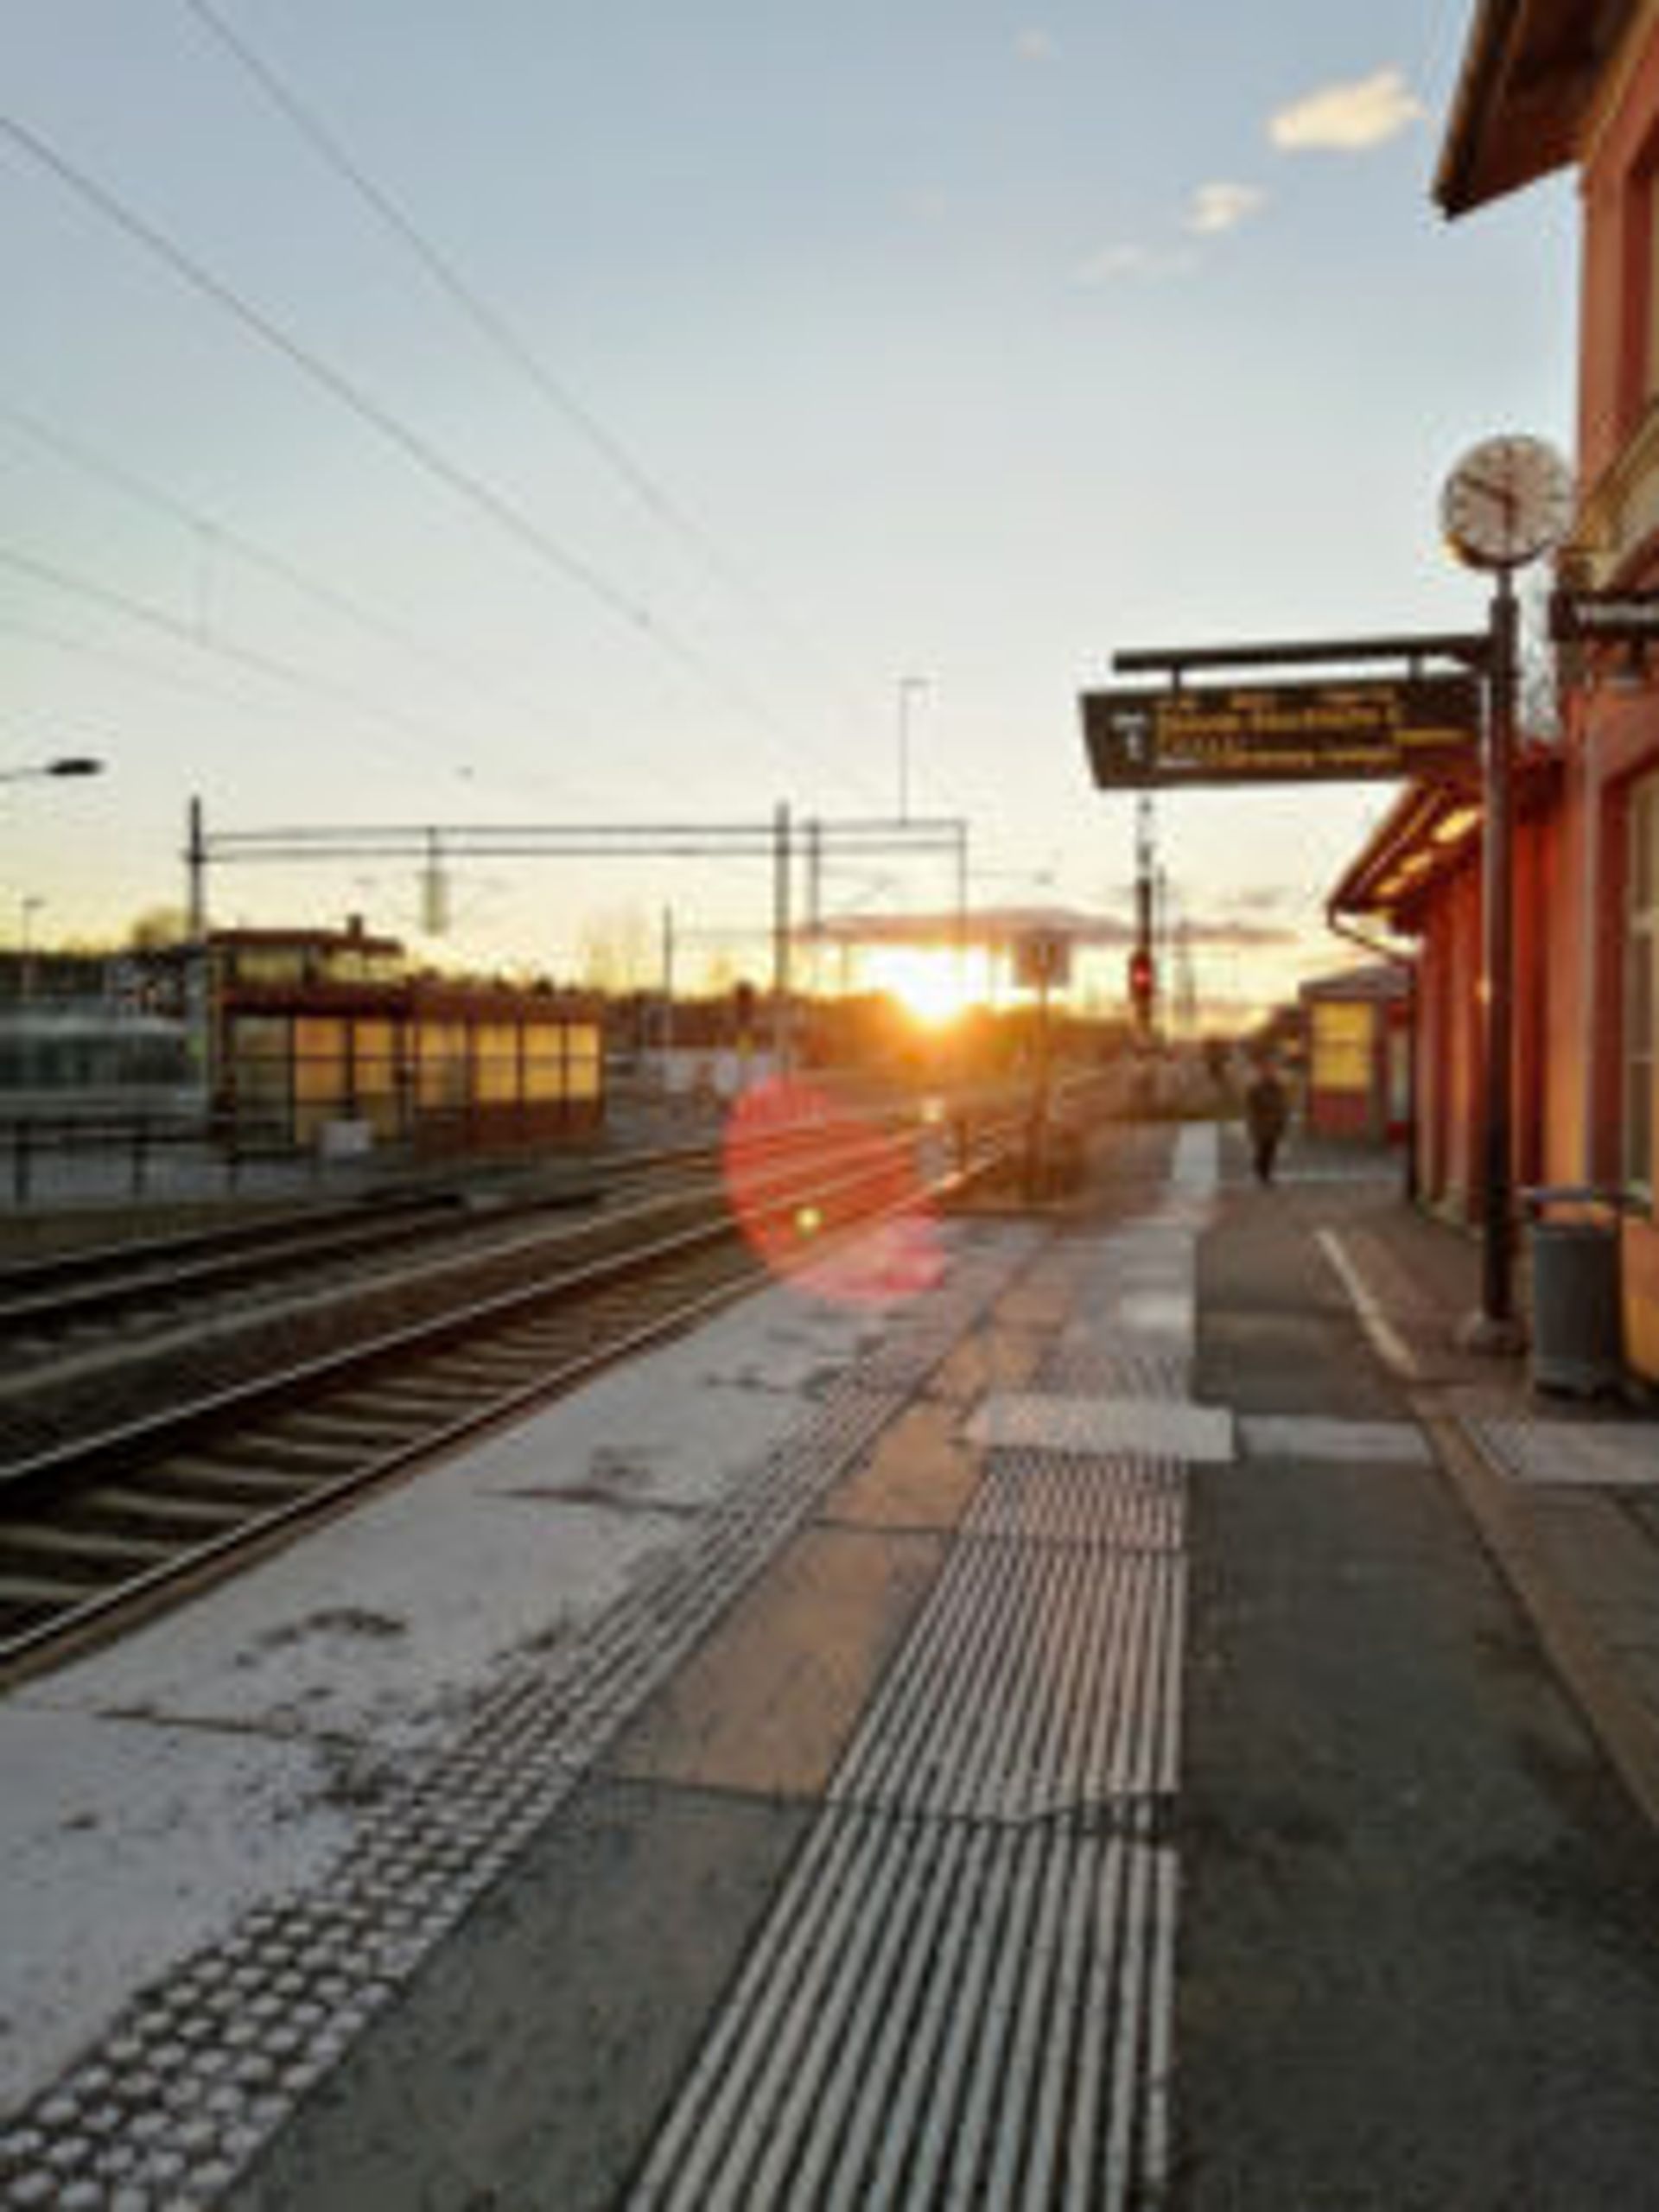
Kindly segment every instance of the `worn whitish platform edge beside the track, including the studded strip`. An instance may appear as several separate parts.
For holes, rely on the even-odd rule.
[[[159,2097],[148,2053],[170,2051],[175,1984],[212,1991],[232,1973],[276,2008],[259,2028],[274,2059],[250,2048],[248,2066],[325,2066],[385,2002],[387,1975],[407,1973],[442,1933],[473,1874],[489,1880],[542,1807],[568,1794],[571,1754],[544,1741],[564,1725],[560,1699],[575,1699],[571,1728],[586,1741],[582,1730],[613,1725],[617,1701],[646,1694],[659,1659],[635,1617],[650,1619],[664,1573],[677,1619],[721,1606],[752,1573],[748,1546],[763,1553],[770,1528],[781,1537],[810,1511],[792,1455],[823,1449],[834,1467],[838,1440],[902,1398],[905,1363],[925,1371],[931,1334],[949,1340],[971,1325],[1029,1245],[1018,1228],[940,1239],[951,1279],[938,1298],[878,1298],[865,1283],[863,1303],[838,1303],[805,1281],[779,1285],[15,1692],[0,1750],[15,1747],[29,1787],[4,1794],[0,1918],[7,1929],[27,1920],[29,1940],[0,1944],[0,2110],[44,2110],[66,2055],[64,2079],[97,2079],[115,2042],[133,2046],[133,2095],[148,2084],[142,2093]],[[896,1365],[867,1400],[843,1385],[872,1354]],[[591,1648],[599,1624],[604,1650]],[[661,1663],[686,1632],[695,1619],[666,1624]],[[535,1743],[491,1747],[526,1694],[540,1697]],[[449,1767],[442,1787],[422,1781]],[[131,1814],[131,1847],[97,1856],[93,1838],[124,1834],[111,1801]],[[445,1829],[451,1812],[467,1843]],[[31,1885],[53,1867],[64,1820],[82,1827],[62,1838],[62,1865],[84,1874],[95,1858],[95,1880],[77,1911],[35,1913]],[[290,1856],[270,1856],[265,1836]],[[170,1860],[190,1874],[175,1865],[177,1900],[157,1902]],[[265,1902],[274,1918],[261,1929]],[[294,2031],[312,2053],[303,2066],[279,2051],[285,1982],[305,1982],[292,2002],[327,2031]],[[263,2126],[254,2106],[268,2097],[248,2088],[234,2112],[230,2101],[208,2128],[223,2157]],[[77,2150],[77,2181],[88,2172],[73,2135],[51,2148]],[[15,2168],[33,2188],[29,2157],[0,2150],[0,2177]],[[208,2174],[223,2157],[197,2157],[179,2137],[166,2163]]]

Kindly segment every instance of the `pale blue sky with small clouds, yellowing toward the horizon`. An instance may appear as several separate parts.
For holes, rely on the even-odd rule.
[[[223,830],[889,812],[900,675],[911,801],[971,818],[982,896],[1119,905],[1133,810],[1075,717],[1113,648],[1471,626],[1447,467],[1571,445],[1571,186],[1429,204],[1462,33],[1429,0],[11,0],[2,759],[111,774],[4,792],[0,931],[177,900],[192,792]],[[1164,803],[1179,905],[1312,922],[1383,796]],[[768,885],[458,867],[447,951],[568,971],[664,902],[721,942]],[[411,869],[215,880],[221,920],[347,907],[414,936]]]

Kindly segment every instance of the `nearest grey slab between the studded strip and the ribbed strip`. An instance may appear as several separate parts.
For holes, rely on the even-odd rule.
[[[807,1814],[593,1781],[354,2044],[228,2212],[602,2212]]]

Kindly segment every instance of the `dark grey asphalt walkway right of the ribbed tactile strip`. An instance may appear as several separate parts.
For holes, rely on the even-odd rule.
[[[1383,1203],[1332,1190],[1237,1190],[1206,1248],[1199,1380],[1245,1436],[1418,1411],[1307,1272]],[[1172,2201],[1646,2203],[1648,1829],[1438,1467],[1254,1436],[1192,1491]]]

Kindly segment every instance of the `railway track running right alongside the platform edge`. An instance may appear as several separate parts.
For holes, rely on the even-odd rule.
[[[281,1542],[372,1484],[557,1396],[918,1197],[949,1199],[1006,1155],[896,1199],[894,1146],[796,1159],[721,1199],[655,1199],[611,1221],[611,1248],[544,1245],[533,1281],[471,1294],[285,1365],[0,1467],[0,1679],[77,1648]],[[549,1250],[557,1256],[549,1263]],[[177,1391],[175,1391],[177,1398]]]

